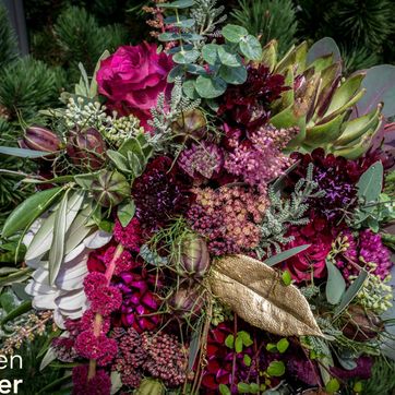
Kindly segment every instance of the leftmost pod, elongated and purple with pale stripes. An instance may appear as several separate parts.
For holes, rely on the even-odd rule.
[[[22,148],[53,153],[60,149],[61,141],[51,130],[39,125],[32,125],[25,130],[25,134],[20,141],[20,146]]]

